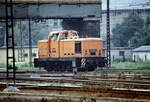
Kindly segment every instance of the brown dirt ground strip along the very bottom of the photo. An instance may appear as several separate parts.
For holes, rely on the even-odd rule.
[[[148,102],[149,93],[113,92],[111,90],[71,91],[20,89],[17,93],[3,93],[0,88],[0,102]]]

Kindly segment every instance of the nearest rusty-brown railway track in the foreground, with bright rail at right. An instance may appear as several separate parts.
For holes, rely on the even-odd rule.
[[[51,98],[57,98],[58,96],[63,97],[78,97],[78,102],[99,102],[99,98],[102,97],[116,97],[119,98],[119,100],[122,100],[121,98],[127,98],[127,102],[130,99],[150,99],[150,90],[143,90],[143,89],[128,89],[128,88],[91,88],[91,87],[70,87],[70,86],[38,86],[34,84],[34,86],[20,86],[19,87],[21,93],[1,93],[1,96],[8,96],[14,97],[14,96],[21,96],[21,97],[51,97]],[[29,95],[30,94],[30,95]],[[55,97],[55,96],[57,97]],[[87,99],[87,98],[93,98],[96,101],[80,101],[80,99]],[[99,100],[99,101],[98,101]],[[137,102],[147,102],[146,101],[137,101]],[[131,101],[131,100],[130,100]],[[64,102],[64,101],[63,101]],[[68,102],[68,101],[66,101]],[[72,101],[69,101],[72,102]],[[100,101],[101,102],[101,101]],[[104,101],[106,102],[106,101]],[[109,101],[108,101],[109,102]],[[119,101],[120,102],[120,101]],[[123,101],[124,102],[124,101]],[[136,102],[136,101],[135,101]]]

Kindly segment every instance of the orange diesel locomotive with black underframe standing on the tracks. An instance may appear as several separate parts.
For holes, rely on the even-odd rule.
[[[48,40],[38,42],[38,56],[34,66],[47,71],[93,71],[106,64],[102,39],[79,38],[74,30],[51,32]]]

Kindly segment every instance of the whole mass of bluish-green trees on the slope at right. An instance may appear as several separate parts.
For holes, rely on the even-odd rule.
[[[150,16],[142,19],[131,13],[112,30],[112,43],[116,47],[150,45]]]

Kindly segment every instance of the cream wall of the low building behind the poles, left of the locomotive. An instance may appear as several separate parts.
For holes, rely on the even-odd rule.
[[[38,49],[32,48],[32,54],[36,55],[32,57],[32,61],[34,61],[34,58],[38,57]],[[15,49],[15,60],[16,62],[20,62],[18,48]],[[24,62],[29,63],[29,48],[24,48],[23,60]],[[6,49],[5,48],[0,48],[0,64],[6,64]]]

